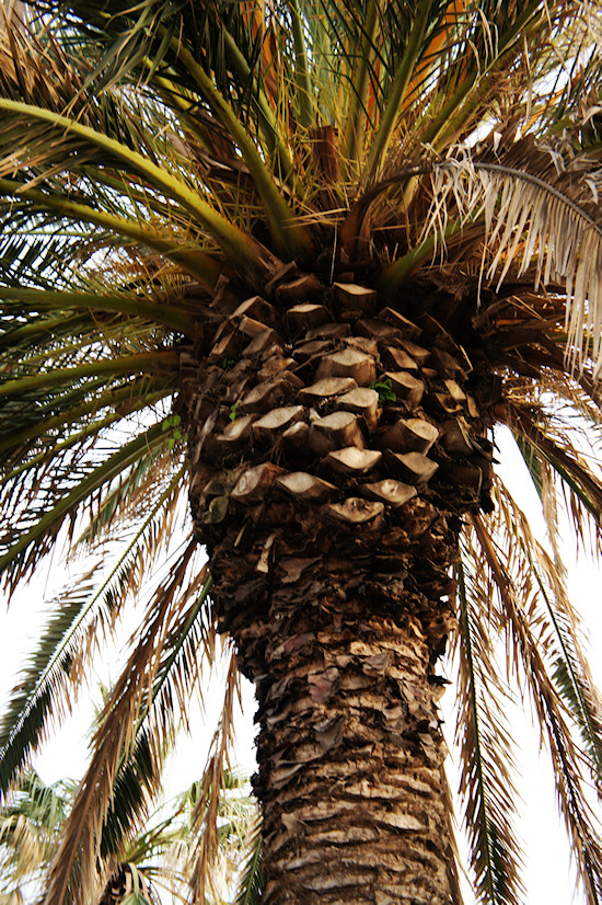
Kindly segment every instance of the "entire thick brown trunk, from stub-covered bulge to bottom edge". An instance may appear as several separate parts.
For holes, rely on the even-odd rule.
[[[462,516],[490,505],[495,386],[370,288],[268,288],[222,289],[181,398],[218,619],[259,702],[263,901],[452,903],[435,666]]]

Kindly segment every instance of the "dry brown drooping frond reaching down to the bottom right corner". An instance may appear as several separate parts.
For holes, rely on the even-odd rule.
[[[528,529],[507,492],[499,490],[499,517],[488,526],[473,518],[496,619],[508,638],[509,667],[524,681],[542,738],[552,757],[558,801],[588,903],[602,901],[602,845],[583,787],[583,769],[599,781],[602,733],[600,703],[582,662],[575,614],[567,608],[562,578]],[[490,529],[493,528],[493,530]],[[584,753],[576,745],[579,728]]]

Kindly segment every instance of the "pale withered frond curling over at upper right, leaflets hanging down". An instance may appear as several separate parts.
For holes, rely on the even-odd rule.
[[[602,370],[602,229],[549,182],[466,153],[433,167],[424,238],[483,218],[483,276],[498,287],[533,272],[535,286],[566,293],[567,354],[572,369]]]

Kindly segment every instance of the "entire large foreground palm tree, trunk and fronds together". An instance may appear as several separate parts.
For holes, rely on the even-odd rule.
[[[120,863],[216,626],[233,648],[207,776],[219,788],[239,668],[258,700],[262,902],[460,900],[447,646],[478,896],[521,901],[518,683],[602,901],[600,701],[557,548],[496,477],[493,434],[512,431],[552,538],[564,499],[598,552],[601,24],[595,0],[4,5],[0,568],[12,589],[57,542],[126,548],[56,602],[0,788],[185,493],[192,514],[47,903],[91,901]]]

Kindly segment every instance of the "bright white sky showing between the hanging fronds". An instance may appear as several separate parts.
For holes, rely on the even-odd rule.
[[[511,440],[500,437],[499,444],[498,458],[501,460],[503,478],[519,503],[529,513],[532,529],[542,536],[544,526],[539,500],[525,478],[522,459]],[[602,651],[602,568],[584,558],[575,563],[575,545],[568,531],[564,540],[565,560],[570,566],[571,599],[582,615],[587,628],[586,650],[589,648],[592,671],[599,687],[602,687],[602,658],[597,654]],[[56,561],[46,564],[40,576],[14,597],[10,609],[7,611],[2,607],[0,610],[0,706],[13,684],[23,654],[33,648],[32,642],[35,642],[39,629],[43,599],[50,598],[63,582],[62,564]],[[124,632],[124,642],[127,641],[132,627],[128,627]],[[117,661],[118,655],[115,651],[107,652],[103,655],[102,663],[96,665],[95,673],[90,676],[90,687],[96,703],[100,700],[99,683],[102,680],[106,685],[111,678],[117,676]],[[453,689],[450,688],[447,694],[452,695]],[[254,703],[253,690],[248,683],[245,683],[244,698],[245,713],[239,721],[235,760],[242,769],[251,774],[254,770]],[[181,735],[177,755],[172,757],[167,771],[167,795],[184,790],[201,775],[215,724],[212,718],[219,712],[219,696],[209,695],[206,723],[197,709],[192,720],[190,733]],[[86,760],[85,731],[91,712],[89,704],[79,709],[36,758],[36,769],[45,782],[81,776]],[[564,830],[557,815],[553,779],[546,764],[547,755],[537,755],[539,737],[530,724],[529,717],[525,719],[518,711],[516,719],[512,718],[512,730],[514,737],[521,741],[521,754],[518,759],[523,772],[520,793],[524,801],[521,809],[524,821],[520,826],[520,834],[525,840],[525,905],[569,905],[571,902],[575,905],[584,905],[581,894],[574,897],[575,881],[569,875],[568,845],[563,838]],[[450,734],[452,731],[453,728],[450,726]],[[453,764],[450,765],[450,781],[452,787],[456,784],[453,778]],[[465,905],[473,903],[472,895],[465,893]]]

